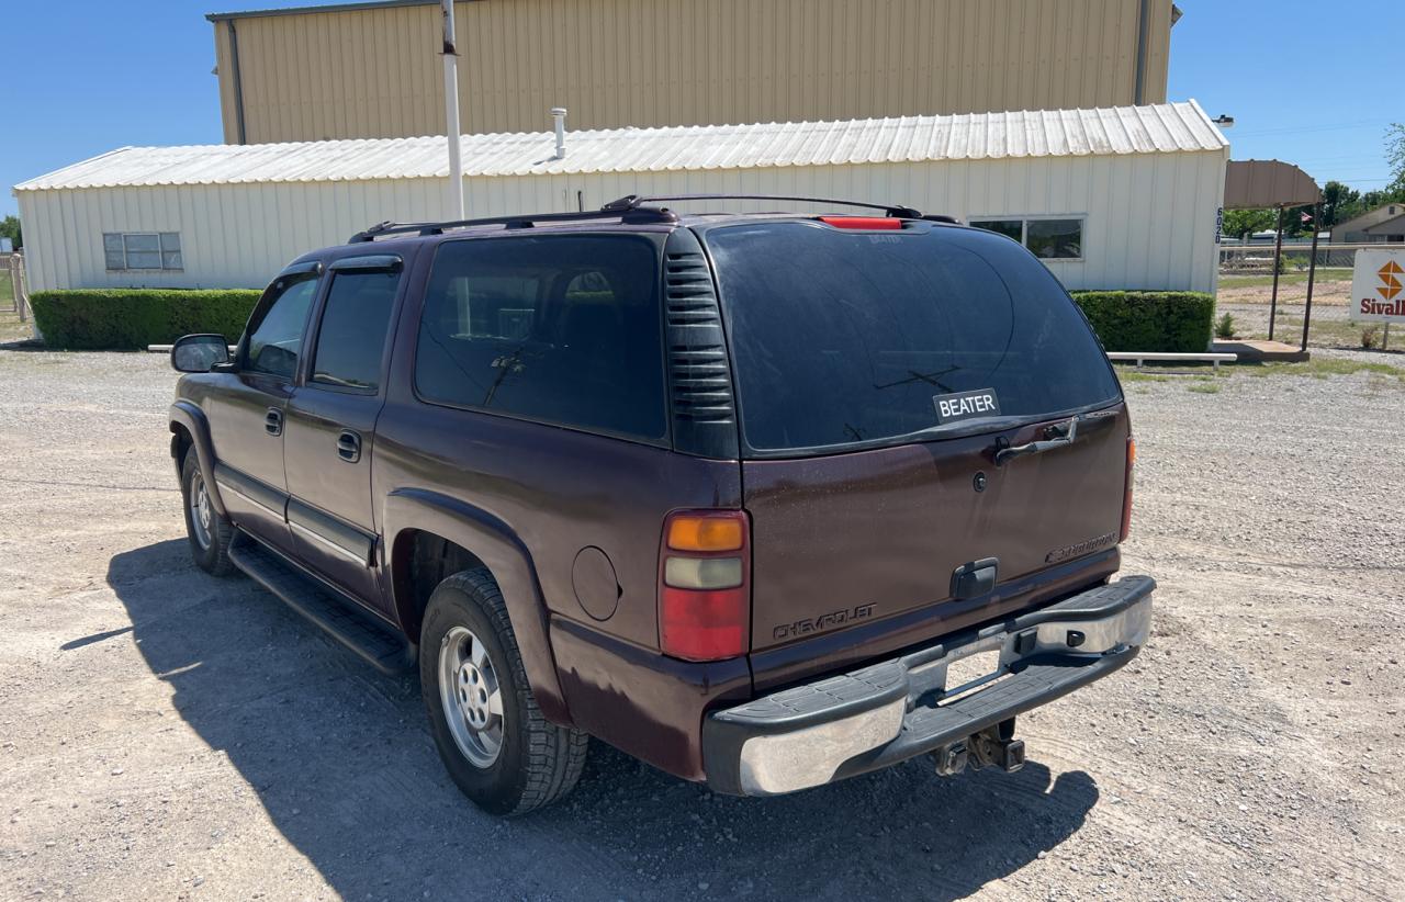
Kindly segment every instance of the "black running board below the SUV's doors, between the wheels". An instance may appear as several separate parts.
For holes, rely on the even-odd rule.
[[[414,646],[403,636],[374,622],[371,614],[353,607],[355,601],[323,586],[256,540],[239,534],[229,545],[229,561],[381,673],[400,676],[414,669]]]

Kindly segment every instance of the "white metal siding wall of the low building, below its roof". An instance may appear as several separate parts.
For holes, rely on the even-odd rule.
[[[1069,288],[1214,291],[1228,150],[960,159],[688,171],[469,177],[473,216],[587,209],[625,194],[801,194],[903,202],[961,218],[1085,216],[1083,259],[1048,261]],[[17,191],[35,289],[261,287],[295,256],[382,219],[445,216],[438,178]],[[750,208],[774,208],[776,204]],[[680,207],[687,209],[686,207]],[[702,204],[701,208],[747,208]],[[183,273],[108,273],[103,232],[180,232]]]

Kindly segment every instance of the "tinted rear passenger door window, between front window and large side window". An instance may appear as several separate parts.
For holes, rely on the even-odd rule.
[[[399,273],[337,273],[327,289],[312,381],[375,391]]]

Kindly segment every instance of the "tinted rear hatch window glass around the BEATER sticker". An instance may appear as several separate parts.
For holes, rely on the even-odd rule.
[[[1003,237],[770,222],[707,242],[754,450],[1005,424],[939,424],[934,398],[957,392],[993,389],[1000,420],[1120,396],[1068,294]]]

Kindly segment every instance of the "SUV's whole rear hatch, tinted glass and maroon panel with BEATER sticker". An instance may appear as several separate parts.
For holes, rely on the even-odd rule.
[[[701,229],[740,413],[752,651],[880,622],[916,641],[1027,604],[1040,575],[1114,569],[1127,414],[1058,281],[995,233],[832,222]],[[1052,445],[995,462],[1034,441]]]

